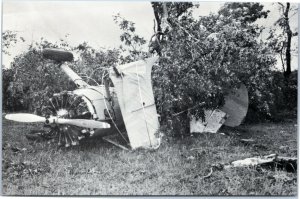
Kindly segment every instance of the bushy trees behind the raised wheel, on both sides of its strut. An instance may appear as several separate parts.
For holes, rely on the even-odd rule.
[[[29,46],[17,57],[11,69],[4,71],[12,76],[6,82],[3,103],[9,111],[29,111],[41,113],[54,93],[74,90],[76,85],[58,68],[52,60],[42,56],[44,48],[63,48],[79,55],[79,59],[69,63],[91,85],[101,83],[106,69],[117,63],[118,50],[95,50],[87,45],[70,46],[64,39],[50,43],[44,38]]]

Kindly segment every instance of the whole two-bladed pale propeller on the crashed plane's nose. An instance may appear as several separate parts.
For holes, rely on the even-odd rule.
[[[49,119],[44,117],[29,114],[29,113],[15,113],[7,114],[5,119],[13,120],[16,122],[46,122],[46,123],[56,123],[56,124],[69,124],[84,128],[110,128],[110,124],[106,122],[100,122],[95,120],[86,120],[86,119],[64,119],[52,116]]]

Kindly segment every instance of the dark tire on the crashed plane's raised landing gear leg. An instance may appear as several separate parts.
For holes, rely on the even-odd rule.
[[[73,61],[73,54],[61,49],[45,48],[43,57],[58,62]]]

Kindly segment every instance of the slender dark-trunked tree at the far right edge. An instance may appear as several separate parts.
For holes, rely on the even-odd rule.
[[[276,94],[276,104],[279,110],[293,110],[292,107],[297,106],[297,83],[295,76],[297,71],[293,74],[291,71],[291,54],[297,48],[292,47],[292,38],[298,35],[297,30],[292,30],[290,26],[290,19],[297,14],[298,8],[290,3],[276,3],[279,9],[280,17],[275,22],[274,28],[270,30],[270,35],[267,38],[270,49],[275,55],[279,55],[282,65],[282,78],[274,73],[276,83],[273,88]],[[281,98],[278,98],[281,96]],[[278,111],[277,111],[278,112]]]

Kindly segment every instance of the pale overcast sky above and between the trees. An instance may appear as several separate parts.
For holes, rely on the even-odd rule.
[[[194,16],[216,13],[222,2],[199,2]],[[271,27],[278,19],[276,6],[263,3],[270,10],[267,19],[259,20],[260,25]],[[7,67],[13,57],[25,51],[28,46],[44,37],[50,42],[59,41],[69,35],[66,41],[71,45],[87,42],[92,47],[113,48],[120,45],[120,30],[113,21],[113,15],[120,13],[126,19],[135,22],[136,31],[145,39],[153,34],[153,10],[148,1],[3,1],[2,30],[17,31],[25,42],[18,42],[10,49],[11,56],[3,57]],[[298,27],[298,17],[291,19],[292,28]],[[297,39],[294,43],[297,44]],[[292,58],[298,66],[296,55]]]

